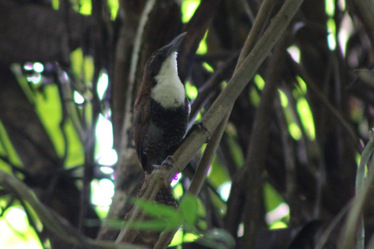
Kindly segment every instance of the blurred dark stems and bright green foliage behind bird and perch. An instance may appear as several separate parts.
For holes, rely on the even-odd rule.
[[[199,121],[230,80],[262,3],[150,2],[0,0],[0,171],[25,183],[50,214],[99,240],[116,239],[119,225],[101,221],[122,221],[144,180],[130,124],[145,61],[188,31],[178,71],[191,124]],[[284,1],[270,2],[263,30]],[[235,100],[191,205],[196,215],[172,246],[233,248],[235,241],[236,248],[322,248],[323,241],[338,248],[374,125],[373,13],[371,0],[304,0]],[[265,100],[266,134],[250,144],[270,82],[276,95]],[[262,148],[258,167],[248,165],[251,146]],[[364,177],[371,152],[361,163]],[[172,182],[178,201],[201,153]],[[255,172],[246,170],[252,166]],[[71,248],[4,179],[2,248]],[[365,229],[359,231],[374,248],[373,190],[365,187],[370,198],[362,202]],[[64,229],[75,229],[70,225]],[[158,227],[155,221],[147,228]]]

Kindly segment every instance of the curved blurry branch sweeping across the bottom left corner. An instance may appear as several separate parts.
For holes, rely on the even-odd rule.
[[[19,199],[27,202],[37,214],[39,220],[56,237],[71,245],[82,248],[98,249],[141,249],[144,247],[134,245],[114,245],[113,242],[96,241],[79,233],[75,227],[71,227],[69,222],[59,214],[51,213],[35,196],[34,192],[14,175],[0,171],[0,186],[14,193]]]

